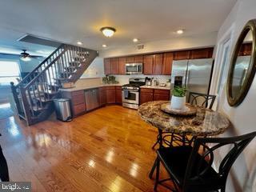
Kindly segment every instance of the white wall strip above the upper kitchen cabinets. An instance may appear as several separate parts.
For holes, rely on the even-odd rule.
[[[161,52],[166,50],[184,50],[190,48],[214,46],[217,38],[217,32],[210,34],[200,34],[195,36],[182,36],[181,38],[170,38],[161,41],[145,42],[143,50],[138,50],[136,45],[122,46],[114,49],[102,50],[100,57],[118,57],[129,54],[145,54],[150,52]]]

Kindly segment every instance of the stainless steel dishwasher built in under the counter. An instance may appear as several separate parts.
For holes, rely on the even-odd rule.
[[[86,90],[85,91],[86,98],[86,110],[94,110],[99,107],[98,102],[98,89]]]

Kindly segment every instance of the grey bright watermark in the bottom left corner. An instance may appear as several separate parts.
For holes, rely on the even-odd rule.
[[[31,192],[31,182],[0,182],[0,192]]]

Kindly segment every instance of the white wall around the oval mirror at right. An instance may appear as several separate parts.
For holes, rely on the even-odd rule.
[[[255,0],[239,0],[234,9],[231,11],[226,21],[223,22],[218,31],[218,41],[222,39],[226,31],[233,27],[231,52],[234,49],[238,35],[243,26],[252,18],[256,18],[256,1]],[[231,53],[230,53],[231,54]],[[230,57],[230,56],[229,56]],[[216,59],[218,60],[218,58]],[[218,63],[216,63],[218,65]],[[213,83],[217,79],[213,79]],[[226,82],[222,82],[226,83]],[[252,83],[249,93],[240,106],[230,107],[226,100],[226,87],[220,90],[219,108],[222,113],[225,113],[234,127],[230,128],[225,134],[233,136],[246,134],[256,130],[256,78]],[[234,163],[233,169],[230,171],[229,180],[227,183],[227,192],[255,192],[256,191],[256,138],[247,146],[246,150],[239,156]],[[222,156],[222,154],[220,155]]]

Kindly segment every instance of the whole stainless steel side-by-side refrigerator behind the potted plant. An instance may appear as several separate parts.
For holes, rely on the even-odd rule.
[[[186,86],[189,92],[209,94],[213,65],[213,58],[174,61],[171,88],[174,87],[174,77],[182,76],[182,85]]]

